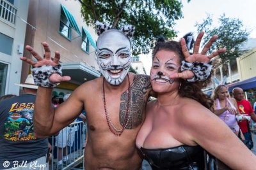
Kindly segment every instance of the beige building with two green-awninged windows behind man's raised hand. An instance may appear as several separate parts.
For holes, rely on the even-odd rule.
[[[63,75],[71,77],[61,83],[55,91],[70,92],[85,81],[100,76],[95,60],[97,34],[81,17],[79,1],[33,0],[29,2],[26,45],[31,45],[39,55],[44,55],[42,42],[49,44],[51,55],[61,55]],[[28,51],[24,56],[35,59]],[[30,66],[23,62],[21,81],[29,74]]]

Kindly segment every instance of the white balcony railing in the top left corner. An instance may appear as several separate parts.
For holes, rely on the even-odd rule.
[[[17,8],[8,1],[0,0],[0,18],[15,25]]]

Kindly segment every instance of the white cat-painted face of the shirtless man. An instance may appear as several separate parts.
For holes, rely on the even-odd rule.
[[[115,29],[103,32],[98,38],[96,60],[100,73],[111,85],[120,85],[131,66],[131,43]]]

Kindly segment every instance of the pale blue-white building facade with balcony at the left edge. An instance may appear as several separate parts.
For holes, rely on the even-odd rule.
[[[0,0],[0,96],[19,94],[29,0]]]

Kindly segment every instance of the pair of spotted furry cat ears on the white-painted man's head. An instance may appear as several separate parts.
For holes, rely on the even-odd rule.
[[[103,32],[108,31],[109,29],[111,28],[108,25],[102,22],[96,21],[96,32],[98,36]],[[134,29],[135,27],[133,25],[125,25],[124,27],[122,27],[122,29],[120,29],[120,31],[124,32],[125,36],[127,36],[127,38],[130,39],[133,37]]]

